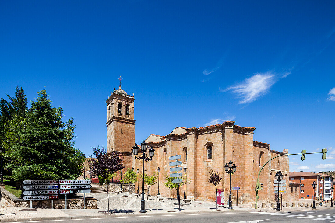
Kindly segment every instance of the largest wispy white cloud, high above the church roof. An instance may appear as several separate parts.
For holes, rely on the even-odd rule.
[[[257,73],[250,78],[246,78],[243,83],[228,87],[221,92],[231,90],[241,97],[240,104],[255,101],[265,94],[269,88],[276,82],[275,75],[272,72]]]

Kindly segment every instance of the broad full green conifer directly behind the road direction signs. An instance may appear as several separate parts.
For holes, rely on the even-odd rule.
[[[22,95],[23,90],[20,91]],[[15,109],[22,100],[12,100]],[[23,101],[24,103],[24,101]],[[75,179],[82,173],[84,154],[74,148],[73,119],[62,122],[63,109],[51,106],[43,89],[26,113],[26,127],[14,128],[22,143],[12,145],[11,155],[20,157],[24,165],[7,164],[15,180]]]

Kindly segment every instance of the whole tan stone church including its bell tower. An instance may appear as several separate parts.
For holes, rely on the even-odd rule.
[[[142,161],[135,160],[132,155],[132,146],[135,143],[134,100],[134,96],[122,90],[121,85],[108,97],[107,151],[122,154],[125,169],[138,167],[142,170]],[[287,149],[281,152],[274,151],[270,149],[270,144],[254,141],[254,130],[255,128],[237,126],[234,121],[229,121],[201,128],[176,127],[165,136],[151,134],[146,143],[148,148],[152,146],[155,149],[155,155],[152,161],[145,163],[146,173],[157,174],[159,167],[160,195],[170,197],[170,189],[164,187],[164,175],[170,174],[169,156],[179,154],[182,156],[182,167],[187,167],[187,175],[191,179],[191,183],[186,185],[187,198],[215,200],[215,186],[208,182],[209,171],[214,170],[222,177],[217,189],[225,190],[227,202],[229,174],[225,173],[224,164],[232,160],[237,165],[237,170],[231,176],[231,187],[241,188],[239,203],[254,201],[261,166],[274,156],[288,153]],[[263,183],[263,190],[259,192],[260,201],[275,199],[274,174],[278,170],[288,182],[288,156],[278,157],[263,168],[260,175],[260,182]],[[157,186],[157,183],[151,186],[149,194],[156,195]],[[176,195],[176,191],[173,190],[173,197]],[[180,196],[184,196],[184,187],[180,190]],[[232,191],[232,201],[234,200],[236,201],[236,191]],[[283,194],[283,200],[287,200],[286,194]]]

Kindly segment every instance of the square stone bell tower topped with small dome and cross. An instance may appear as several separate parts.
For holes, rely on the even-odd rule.
[[[131,148],[135,143],[134,94],[121,89],[111,92],[107,104],[107,153],[114,151],[124,158],[125,169],[131,168]]]

